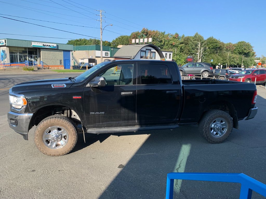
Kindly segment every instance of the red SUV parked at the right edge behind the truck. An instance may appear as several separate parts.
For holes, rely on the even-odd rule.
[[[263,69],[246,69],[238,74],[231,75],[230,81],[243,81],[248,83],[263,83],[265,85],[266,82],[266,71]]]

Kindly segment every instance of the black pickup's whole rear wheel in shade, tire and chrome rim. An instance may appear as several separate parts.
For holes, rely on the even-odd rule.
[[[210,110],[199,123],[201,135],[210,143],[223,142],[232,132],[233,120],[225,111]]]

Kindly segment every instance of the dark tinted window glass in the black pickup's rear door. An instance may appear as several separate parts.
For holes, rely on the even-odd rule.
[[[140,64],[140,84],[172,84],[168,66],[164,64]]]

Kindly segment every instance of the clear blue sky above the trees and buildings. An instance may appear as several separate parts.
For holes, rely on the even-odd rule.
[[[53,3],[52,1],[58,4]],[[184,34],[185,36],[193,36],[196,32],[198,32],[204,37],[204,39],[213,36],[225,43],[236,43],[238,41],[250,42],[258,57],[261,55],[266,56],[266,13],[264,12],[266,8],[266,1],[263,0],[52,1],[0,0],[0,14],[93,28],[75,27],[71,25],[48,23],[5,15],[0,16],[99,38],[100,22],[95,20],[99,19],[99,16],[97,16],[99,15],[99,12],[95,10],[104,10],[106,13],[104,13],[105,17],[103,19],[106,22],[103,23],[103,27],[108,24],[113,24],[113,26],[107,26],[105,28],[103,31],[103,40],[112,41],[121,34],[130,35],[131,32],[140,31],[143,27],[152,30],[165,31],[166,33],[177,32],[178,34]],[[70,5],[68,2],[80,8]],[[16,6],[6,3],[12,3]],[[79,3],[80,5],[76,3]],[[85,10],[81,8],[84,8]],[[73,39],[91,38],[4,18],[0,18],[0,23],[0,33]],[[108,30],[113,32],[109,32]],[[40,38],[6,34],[0,34],[0,38],[15,38],[57,43],[66,43],[68,41],[68,39]]]

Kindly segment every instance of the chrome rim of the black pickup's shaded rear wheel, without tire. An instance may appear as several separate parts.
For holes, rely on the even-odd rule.
[[[226,120],[223,118],[217,118],[211,122],[210,132],[214,137],[221,137],[226,133],[227,128],[228,124]]]

